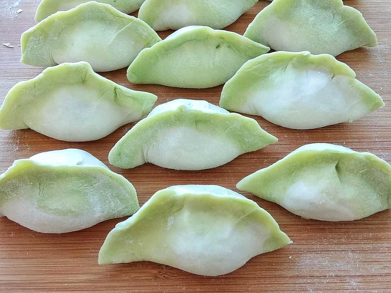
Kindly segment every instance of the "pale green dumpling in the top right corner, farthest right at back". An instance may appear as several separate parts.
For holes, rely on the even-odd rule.
[[[276,51],[333,56],[377,45],[362,14],[342,0],[274,0],[258,13],[244,36]]]

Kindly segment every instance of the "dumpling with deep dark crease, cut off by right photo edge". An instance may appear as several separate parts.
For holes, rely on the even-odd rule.
[[[314,143],[248,175],[237,188],[303,218],[351,221],[390,208],[391,166],[368,152]]]

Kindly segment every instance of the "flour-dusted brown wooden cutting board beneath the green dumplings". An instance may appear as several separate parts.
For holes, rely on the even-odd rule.
[[[0,97],[17,82],[35,77],[42,68],[20,64],[20,34],[35,24],[38,0],[2,0],[0,6]],[[16,3],[14,3],[16,2]],[[269,2],[260,1],[227,30],[244,33],[255,15]],[[131,170],[110,166],[129,179],[143,204],[159,189],[176,184],[218,184],[235,189],[244,176],[274,163],[307,143],[340,144],[369,151],[391,162],[391,0],[346,0],[359,9],[377,33],[378,46],[338,56],[357,78],[379,93],[386,107],[350,124],[316,130],[291,130],[256,118],[280,141],[244,154],[219,168],[187,172],[144,164]],[[16,13],[18,9],[23,12]],[[136,14],[135,14],[136,15]],[[159,33],[165,38],[170,32]],[[335,40],[338,41],[337,39]],[[115,82],[159,96],[158,103],[174,98],[205,99],[218,104],[221,86],[212,89],[176,89],[133,85],[126,69],[104,73]],[[110,148],[132,124],[98,141],[69,143],[32,130],[0,131],[0,171],[15,159],[38,152],[81,148],[108,164]],[[97,254],[107,233],[122,219],[109,220],[78,232],[40,234],[0,218],[0,292],[264,292],[264,293],[389,293],[391,292],[391,212],[384,211],[354,222],[305,220],[277,204],[245,194],[269,211],[293,244],[258,255],[242,268],[220,277],[203,277],[169,266],[138,262],[99,266]]]

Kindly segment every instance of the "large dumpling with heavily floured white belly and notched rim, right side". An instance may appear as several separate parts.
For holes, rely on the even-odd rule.
[[[352,122],[384,106],[355,76],[328,54],[264,54],[247,61],[228,80],[220,106],[293,129]]]

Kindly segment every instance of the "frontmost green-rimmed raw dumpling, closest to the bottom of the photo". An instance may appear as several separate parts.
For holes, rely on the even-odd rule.
[[[292,241],[255,202],[216,185],[156,192],[109,232],[99,264],[153,261],[198,275],[230,273]]]

